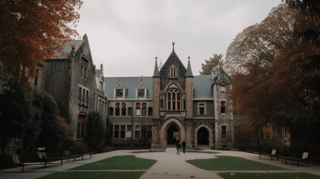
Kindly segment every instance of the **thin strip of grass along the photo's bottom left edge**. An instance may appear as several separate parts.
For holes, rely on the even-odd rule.
[[[71,171],[71,172],[57,172],[50,175],[42,176],[40,179],[131,179],[139,178],[144,172],[121,172],[121,171]]]

